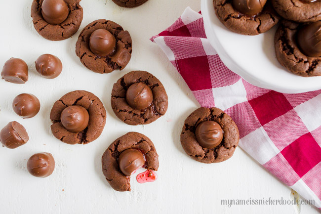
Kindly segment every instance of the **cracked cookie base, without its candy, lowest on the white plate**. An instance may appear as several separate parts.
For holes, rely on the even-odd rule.
[[[302,77],[321,76],[321,57],[303,54],[296,42],[296,32],[303,24],[282,20],[275,35],[275,51],[280,64]]]

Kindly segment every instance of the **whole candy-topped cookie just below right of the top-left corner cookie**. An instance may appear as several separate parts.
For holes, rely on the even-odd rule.
[[[99,19],[81,31],[76,54],[86,68],[104,74],[126,67],[131,58],[131,45],[128,31],[113,21]]]

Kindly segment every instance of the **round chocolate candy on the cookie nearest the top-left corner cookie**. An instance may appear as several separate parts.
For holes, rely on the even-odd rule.
[[[89,47],[94,54],[107,56],[115,51],[116,39],[109,31],[98,29],[90,35]]]

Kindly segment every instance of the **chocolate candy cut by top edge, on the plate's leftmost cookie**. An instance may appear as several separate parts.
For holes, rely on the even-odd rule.
[[[237,11],[253,16],[260,13],[263,10],[267,0],[233,0],[233,7]]]

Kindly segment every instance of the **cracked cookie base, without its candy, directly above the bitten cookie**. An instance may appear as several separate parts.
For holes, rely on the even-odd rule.
[[[152,104],[142,110],[133,109],[126,101],[126,91],[134,83],[145,83],[153,91]],[[128,125],[150,124],[163,116],[168,107],[168,97],[164,86],[146,71],[132,71],[125,74],[114,84],[111,98],[116,116]]]

